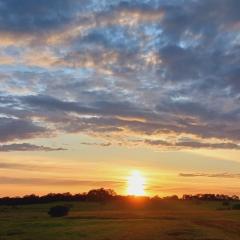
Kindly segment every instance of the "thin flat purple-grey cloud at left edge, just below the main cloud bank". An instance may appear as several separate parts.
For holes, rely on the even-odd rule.
[[[29,143],[13,143],[13,144],[6,144],[0,145],[0,152],[14,152],[14,151],[63,151],[66,150],[64,148],[53,148],[53,147],[45,147],[45,146],[38,146]]]

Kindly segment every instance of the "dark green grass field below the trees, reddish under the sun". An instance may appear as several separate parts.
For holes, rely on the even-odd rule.
[[[239,240],[240,211],[217,202],[162,202],[158,206],[71,204],[51,218],[53,204],[0,206],[0,240]]]

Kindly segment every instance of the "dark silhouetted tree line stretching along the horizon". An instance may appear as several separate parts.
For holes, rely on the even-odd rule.
[[[189,195],[184,194],[182,198],[177,195],[166,196],[160,198],[154,197],[134,197],[134,196],[121,196],[117,195],[112,189],[92,189],[88,193],[71,194],[66,193],[49,193],[43,196],[37,196],[35,194],[25,195],[23,197],[2,197],[0,198],[0,205],[24,205],[24,204],[39,204],[39,203],[51,203],[51,202],[108,202],[108,201],[129,201],[129,200],[144,200],[146,202],[158,202],[166,200],[201,200],[201,201],[239,201],[239,197],[236,195],[228,196],[223,194],[196,194]]]

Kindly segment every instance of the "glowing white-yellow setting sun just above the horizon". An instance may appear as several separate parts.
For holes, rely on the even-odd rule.
[[[132,174],[128,177],[128,195],[144,196],[145,182],[145,178],[141,175],[139,171],[133,171]]]

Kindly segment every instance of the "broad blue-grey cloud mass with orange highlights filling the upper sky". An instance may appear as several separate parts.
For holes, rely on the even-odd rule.
[[[0,141],[111,133],[238,150],[239,10],[238,0],[0,1]]]

